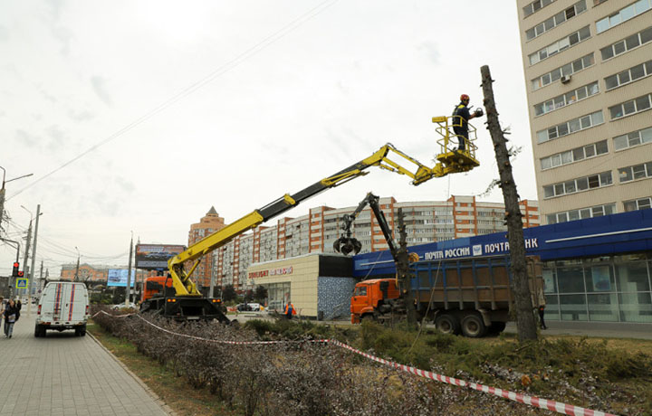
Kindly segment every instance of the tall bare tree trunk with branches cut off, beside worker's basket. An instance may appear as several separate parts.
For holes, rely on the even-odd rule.
[[[484,93],[484,109],[487,115],[487,129],[494,142],[494,151],[498,172],[500,173],[500,187],[503,189],[505,204],[505,221],[507,222],[507,240],[510,245],[512,260],[514,306],[516,307],[516,328],[519,341],[537,339],[536,321],[532,313],[532,298],[527,275],[525,260],[525,242],[523,241],[523,220],[519,195],[516,192],[516,183],[512,175],[512,164],[509,160],[507,140],[503,128],[498,120],[498,110],[494,101],[494,89],[489,67],[484,65],[480,69]]]

